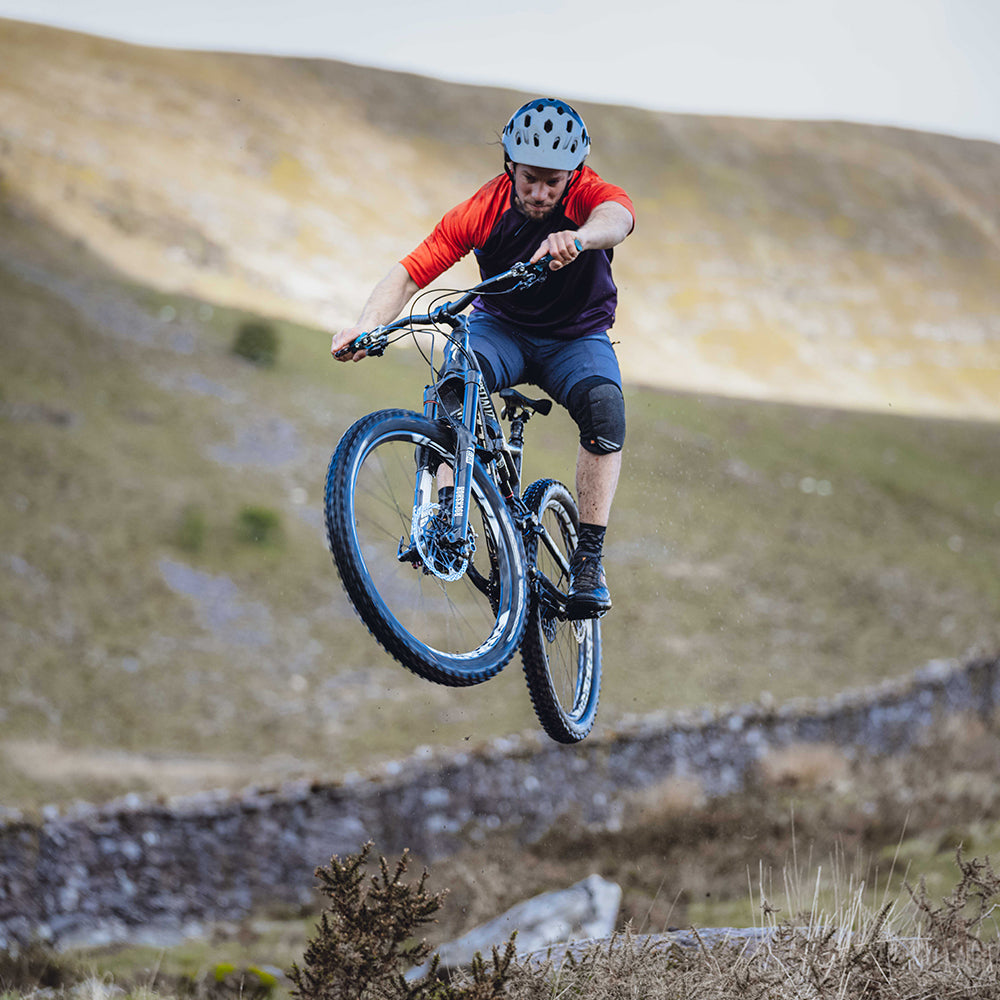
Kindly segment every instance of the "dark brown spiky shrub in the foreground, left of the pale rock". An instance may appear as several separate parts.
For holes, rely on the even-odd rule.
[[[409,983],[407,967],[419,965],[431,953],[414,933],[434,919],[445,894],[427,891],[427,872],[420,880],[403,882],[408,863],[404,851],[390,870],[379,859],[379,872],[366,878],[371,843],[344,861],[334,856],[316,869],[320,892],[330,900],[316,936],[309,942],[303,965],[288,975],[292,996],[300,1000],[494,1000],[504,995],[514,958],[514,938],[502,956],[493,952],[492,970],[476,956],[471,981],[451,985],[438,980],[435,959],[425,979]]]

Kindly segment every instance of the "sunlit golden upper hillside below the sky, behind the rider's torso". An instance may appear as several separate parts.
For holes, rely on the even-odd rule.
[[[133,279],[337,326],[496,172],[523,96],[0,21],[0,182]],[[637,204],[632,382],[1000,415],[1000,146],[580,110]]]

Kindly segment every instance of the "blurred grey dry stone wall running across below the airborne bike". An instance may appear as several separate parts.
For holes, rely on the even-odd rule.
[[[0,949],[164,940],[205,921],[312,898],[313,871],[368,839],[433,860],[504,829],[531,841],[567,816],[613,827],[629,794],[671,776],[737,790],[768,752],[828,743],[893,754],[947,715],[992,716],[1000,659],[936,662],[832,700],[647,719],[575,747],[537,737],[417,756],[342,784],[169,803],[127,797],[0,822]]]

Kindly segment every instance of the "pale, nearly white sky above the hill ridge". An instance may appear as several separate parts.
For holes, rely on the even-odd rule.
[[[1000,0],[0,0],[0,17],[570,101],[1000,142]]]

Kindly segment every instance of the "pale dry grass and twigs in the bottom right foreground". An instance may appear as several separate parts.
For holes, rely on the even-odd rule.
[[[961,877],[940,905],[923,887],[865,912],[864,886],[842,912],[812,910],[764,926],[749,941],[709,943],[708,932],[636,938],[626,933],[582,956],[549,962],[546,978],[512,977],[510,1000],[996,1000],[1000,876],[989,859],[957,856]],[[522,967],[518,967],[517,972]]]

